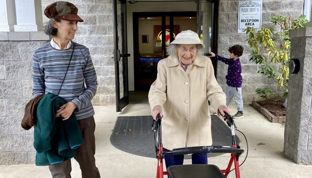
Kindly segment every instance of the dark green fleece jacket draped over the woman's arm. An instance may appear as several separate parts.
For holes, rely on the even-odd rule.
[[[56,111],[67,103],[56,94],[46,94],[37,107],[37,125],[34,131],[36,165],[60,163],[75,156],[74,150],[83,143],[76,116],[62,121]]]

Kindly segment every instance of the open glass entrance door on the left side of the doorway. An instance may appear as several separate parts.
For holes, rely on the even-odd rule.
[[[126,0],[113,1],[116,111],[129,104]]]

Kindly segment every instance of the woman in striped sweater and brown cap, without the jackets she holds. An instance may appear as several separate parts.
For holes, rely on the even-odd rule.
[[[32,59],[32,96],[45,93],[57,94],[67,103],[57,110],[63,120],[75,114],[84,143],[75,150],[75,159],[82,178],[100,177],[95,166],[95,121],[91,103],[97,89],[97,78],[89,49],[72,41],[83,20],[77,15],[77,7],[69,2],[50,4],[44,14],[50,20],[45,24],[52,40],[35,50]],[[85,87],[86,86],[86,87]],[[71,177],[71,160],[49,166],[52,177]]]

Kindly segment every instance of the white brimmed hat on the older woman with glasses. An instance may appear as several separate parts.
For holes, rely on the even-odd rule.
[[[203,49],[205,48],[205,45],[200,42],[197,33],[191,30],[181,31],[170,44],[200,44]]]

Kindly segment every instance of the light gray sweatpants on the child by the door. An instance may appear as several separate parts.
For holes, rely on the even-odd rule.
[[[230,101],[232,100],[234,96],[234,101],[237,105],[237,111],[243,112],[243,97],[241,95],[241,87],[230,87],[227,86],[227,106],[229,105]]]

